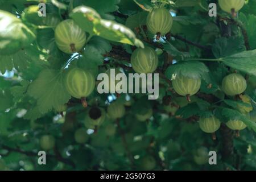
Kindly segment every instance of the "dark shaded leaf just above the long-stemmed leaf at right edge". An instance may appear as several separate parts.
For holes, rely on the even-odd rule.
[[[242,37],[229,37],[216,39],[212,45],[212,52],[216,58],[233,55],[234,53],[245,51]]]

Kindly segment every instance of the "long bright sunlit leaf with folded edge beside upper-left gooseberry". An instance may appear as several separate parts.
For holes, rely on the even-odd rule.
[[[113,42],[144,47],[141,40],[137,39],[134,32],[129,28],[112,20],[101,19],[97,12],[89,7],[76,7],[70,16],[82,30],[92,35],[101,36]]]

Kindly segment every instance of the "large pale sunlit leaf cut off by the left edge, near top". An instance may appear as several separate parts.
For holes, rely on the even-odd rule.
[[[0,55],[11,55],[35,40],[35,34],[7,11],[0,10],[0,24]]]

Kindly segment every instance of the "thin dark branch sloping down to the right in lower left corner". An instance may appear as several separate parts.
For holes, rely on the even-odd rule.
[[[24,150],[21,150],[20,148],[12,148],[12,147],[6,146],[5,144],[2,144],[1,146],[2,146],[3,149],[8,150],[9,152],[18,152],[20,154],[24,154],[24,155],[27,155],[27,156],[38,156],[37,152],[24,151]],[[72,166],[73,168],[76,167],[75,163],[73,163],[71,160],[63,158],[62,156],[47,154],[47,157],[57,159],[60,162],[63,162],[65,164],[68,164],[69,166]]]

